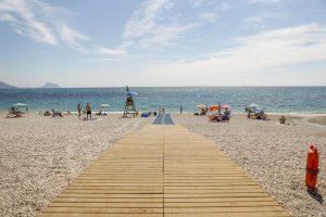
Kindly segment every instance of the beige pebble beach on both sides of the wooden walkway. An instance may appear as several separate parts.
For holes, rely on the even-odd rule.
[[[36,216],[115,140],[153,120],[121,116],[85,122],[76,115],[52,118],[29,113],[0,118],[0,216]],[[311,117],[293,116],[289,125],[279,125],[277,116],[253,120],[244,114],[234,115],[229,123],[190,114],[172,117],[214,141],[293,216],[326,215],[326,129],[315,124],[324,117],[312,123]],[[321,155],[319,196],[310,195],[304,186],[310,143],[317,144]]]

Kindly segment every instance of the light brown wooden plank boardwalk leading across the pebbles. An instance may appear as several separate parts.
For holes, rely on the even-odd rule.
[[[213,142],[149,125],[87,167],[42,217],[289,216]]]

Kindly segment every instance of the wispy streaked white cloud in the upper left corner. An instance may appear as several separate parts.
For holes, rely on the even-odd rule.
[[[88,37],[74,29],[64,18],[67,10],[39,0],[8,0],[0,2],[0,21],[8,23],[17,34],[36,42],[58,46],[66,43],[77,49]]]

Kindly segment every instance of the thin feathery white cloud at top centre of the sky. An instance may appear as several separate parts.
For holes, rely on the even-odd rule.
[[[189,5],[197,9],[187,17],[179,9]],[[210,0],[147,0],[133,13],[123,35],[146,48],[174,44],[186,33],[216,21],[217,12],[226,9],[227,3]]]

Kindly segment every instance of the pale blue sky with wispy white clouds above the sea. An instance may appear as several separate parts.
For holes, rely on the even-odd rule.
[[[0,0],[0,80],[325,86],[326,0]]]

